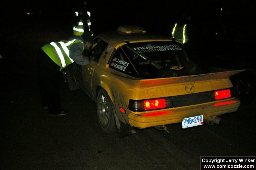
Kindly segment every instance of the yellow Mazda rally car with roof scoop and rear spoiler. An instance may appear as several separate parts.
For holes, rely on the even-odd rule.
[[[182,43],[139,26],[98,35],[86,55],[92,62],[71,64],[69,78],[97,103],[105,132],[118,130],[120,123],[133,128],[218,123],[219,115],[240,106],[229,77],[244,70],[204,68]]]

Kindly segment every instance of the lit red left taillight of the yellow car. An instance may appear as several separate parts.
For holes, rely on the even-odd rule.
[[[146,100],[132,100],[129,101],[129,109],[135,112],[157,110],[172,107],[171,97],[146,99]]]

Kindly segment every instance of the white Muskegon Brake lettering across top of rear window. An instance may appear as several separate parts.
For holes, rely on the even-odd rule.
[[[148,46],[148,47],[136,47],[133,48],[135,51],[145,53],[154,51],[173,51],[182,50],[179,45],[159,45],[159,46]]]

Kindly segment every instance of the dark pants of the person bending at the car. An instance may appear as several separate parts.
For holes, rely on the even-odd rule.
[[[38,72],[41,102],[50,114],[59,114],[61,72],[60,67],[42,50],[38,51]]]

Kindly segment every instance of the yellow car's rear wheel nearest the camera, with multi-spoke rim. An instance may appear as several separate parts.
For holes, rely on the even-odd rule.
[[[97,97],[97,116],[98,121],[106,133],[114,132],[115,119],[114,119],[114,107],[107,92],[100,89]]]

